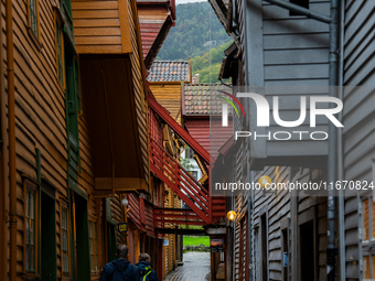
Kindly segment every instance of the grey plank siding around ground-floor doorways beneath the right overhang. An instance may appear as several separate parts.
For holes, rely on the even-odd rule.
[[[302,172],[292,176],[290,174],[289,167],[266,167],[264,171],[259,171],[256,173],[256,179],[259,176],[267,174],[271,177],[272,182],[277,183],[286,183],[290,182],[300,182],[308,183],[314,182],[317,179],[322,179],[322,172],[320,171],[310,171],[309,169],[304,169]],[[278,180],[277,180],[278,177]],[[276,193],[270,193],[262,195],[261,191],[256,192],[255,202],[254,202],[254,226],[253,228],[257,228],[260,224],[260,216],[267,216],[267,255],[268,255],[268,266],[267,271],[270,280],[285,280],[282,278],[282,237],[281,237],[281,221],[287,220],[291,217],[291,196],[297,196],[297,194],[291,195],[289,191],[278,191]],[[307,214],[312,214],[311,217]],[[325,249],[326,249],[326,198],[325,197],[314,197],[304,194],[303,192],[299,192],[298,194],[298,216],[294,219],[294,223],[299,227],[300,225],[312,221],[314,225],[313,239],[315,240],[313,245],[314,251],[314,278],[315,280],[325,280],[326,279],[326,269],[325,269]],[[288,226],[288,233],[291,231],[292,228]],[[297,231],[297,230],[294,230]],[[300,264],[296,260],[299,260],[299,255],[301,251],[301,244],[303,242],[303,237],[300,236],[299,231],[294,233],[294,237],[298,237],[296,240],[288,240],[288,263],[290,268],[297,268],[298,274],[301,274]],[[307,242],[307,241],[304,241]],[[258,264],[258,259],[261,257],[261,246],[255,245],[253,252],[253,260],[255,264]],[[296,248],[298,252],[298,257],[292,256],[291,249]],[[257,266],[258,269],[260,266]],[[255,279],[261,280],[261,270],[254,271]]]

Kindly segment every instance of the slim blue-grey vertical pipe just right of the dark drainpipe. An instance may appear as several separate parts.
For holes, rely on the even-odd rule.
[[[343,79],[344,79],[344,26],[345,26],[345,6],[341,2],[340,7],[340,61],[339,61],[339,98],[344,99]],[[342,123],[343,114],[339,114],[339,120]],[[338,181],[344,180],[344,155],[343,155],[343,128],[339,128],[338,136]],[[345,281],[345,197],[344,191],[339,192],[339,257],[340,257],[340,280]]]

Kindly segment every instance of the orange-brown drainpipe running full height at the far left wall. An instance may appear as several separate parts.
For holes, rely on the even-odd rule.
[[[9,228],[10,228],[10,281],[17,280],[17,182],[15,182],[15,114],[13,66],[12,1],[6,1],[7,75],[8,75],[8,128],[9,128]]]

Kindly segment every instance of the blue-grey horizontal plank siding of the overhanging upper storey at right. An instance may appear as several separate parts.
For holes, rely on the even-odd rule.
[[[329,84],[329,25],[306,17],[291,17],[288,10],[267,1],[238,2],[239,42],[244,52],[239,52],[238,80],[234,83],[242,86],[246,82],[247,86],[266,87],[262,95],[268,99],[275,95],[281,96],[281,119],[296,120],[300,108],[297,102],[299,97],[293,94],[292,87],[324,87]],[[329,8],[328,0],[309,1],[309,9],[314,12],[329,14]],[[310,91],[311,95],[328,95],[325,88]],[[254,102],[245,99],[242,102],[251,116],[256,112]],[[239,123],[242,120],[235,117],[235,130],[238,130]],[[324,121],[319,121],[318,127],[321,131],[328,129]],[[268,131],[272,136],[278,128],[276,122],[271,122]],[[308,123],[300,129],[310,130]],[[253,117],[249,118],[248,130],[268,132],[257,128]],[[317,161],[323,162],[328,153],[326,142],[317,143],[293,137],[287,142],[254,141],[250,148],[251,169],[255,170],[261,170],[265,165],[299,165],[299,156],[315,156]],[[289,163],[286,163],[287,160]]]

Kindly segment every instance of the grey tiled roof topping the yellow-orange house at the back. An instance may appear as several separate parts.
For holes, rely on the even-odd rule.
[[[149,82],[189,82],[190,67],[188,61],[154,61],[149,76]]]

